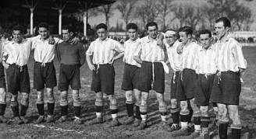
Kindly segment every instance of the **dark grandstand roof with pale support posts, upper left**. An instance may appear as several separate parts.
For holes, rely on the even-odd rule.
[[[56,26],[61,15],[79,12],[79,10],[87,11],[87,9],[114,2],[116,0],[2,0],[0,23],[16,22],[25,25],[30,23],[30,25],[32,24],[30,33],[32,33],[31,29],[33,29],[34,23],[45,21]],[[61,12],[59,12],[60,10]],[[59,19],[59,26],[62,25],[62,20],[63,23],[70,21]],[[84,27],[86,28],[86,26]]]

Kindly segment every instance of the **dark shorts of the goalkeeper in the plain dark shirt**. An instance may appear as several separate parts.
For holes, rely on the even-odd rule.
[[[73,90],[81,89],[80,66],[78,64],[60,64],[59,67],[59,87],[60,91],[67,91],[69,85]]]

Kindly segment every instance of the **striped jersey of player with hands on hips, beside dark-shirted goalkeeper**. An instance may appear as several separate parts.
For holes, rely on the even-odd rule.
[[[124,52],[121,43],[110,38],[106,38],[105,40],[98,38],[91,42],[86,54],[93,56],[93,64],[111,64],[116,52]]]

